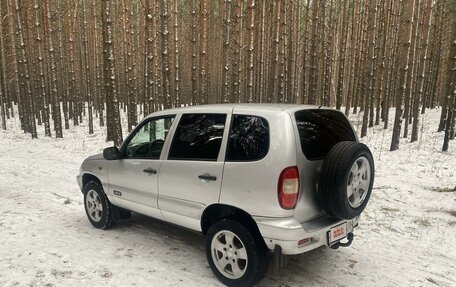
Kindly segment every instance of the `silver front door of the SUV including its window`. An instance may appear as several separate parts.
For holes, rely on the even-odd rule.
[[[174,116],[142,122],[127,138],[120,159],[111,161],[108,180],[113,204],[161,218],[158,209],[158,174],[163,147]]]

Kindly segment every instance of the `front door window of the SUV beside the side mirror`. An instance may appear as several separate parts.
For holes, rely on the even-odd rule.
[[[160,159],[174,116],[151,119],[131,137],[124,158]]]

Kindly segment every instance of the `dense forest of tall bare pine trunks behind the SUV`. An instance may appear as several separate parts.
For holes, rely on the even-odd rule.
[[[335,107],[390,150],[439,107],[455,137],[455,0],[1,0],[0,49],[0,123],[32,138],[211,103]]]

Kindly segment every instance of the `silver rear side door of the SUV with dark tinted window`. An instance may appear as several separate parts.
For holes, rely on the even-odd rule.
[[[218,202],[228,121],[227,113],[181,116],[158,179],[165,220],[199,230],[202,210]]]

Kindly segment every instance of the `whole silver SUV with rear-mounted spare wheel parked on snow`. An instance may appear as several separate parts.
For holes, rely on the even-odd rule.
[[[200,231],[219,280],[251,286],[269,251],[348,246],[374,163],[337,110],[206,105],[147,116],[120,148],[87,158],[77,180],[93,226],[133,211]]]

